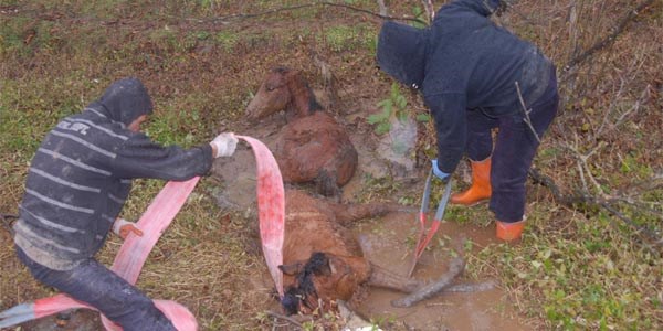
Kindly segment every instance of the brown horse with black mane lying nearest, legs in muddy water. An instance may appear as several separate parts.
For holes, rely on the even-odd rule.
[[[348,301],[364,286],[381,287],[408,293],[391,302],[411,307],[441,291],[477,291],[491,284],[454,285],[464,268],[461,257],[449,270],[431,282],[391,273],[362,255],[361,241],[355,241],[344,225],[393,212],[413,210],[389,203],[348,204],[315,199],[299,190],[286,190],[285,238],[283,246],[285,296],[281,303],[286,313],[311,313],[333,309],[337,300]]]

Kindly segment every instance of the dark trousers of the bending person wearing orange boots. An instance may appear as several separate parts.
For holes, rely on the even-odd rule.
[[[556,82],[550,88],[557,90]],[[534,103],[529,118],[539,139],[557,114],[559,96],[555,92]],[[498,128],[493,148],[491,130]],[[539,142],[525,121],[524,111],[514,116],[490,117],[481,109],[467,111],[467,157],[482,161],[492,157],[490,209],[497,221],[512,223],[523,220],[525,213],[525,182]]]

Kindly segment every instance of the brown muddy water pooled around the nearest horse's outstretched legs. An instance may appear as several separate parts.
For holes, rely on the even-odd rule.
[[[357,225],[354,232],[361,237],[365,256],[372,263],[407,275],[412,261],[412,250],[418,232],[418,220],[412,214],[391,214]],[[493,242],[493,228],[460,226],[442,223],[436,236],[423,253],[412,277],[436,279],[446,271],[459,238],[476,245],[473,249]],[[449,238],[449,239],[446,239]],[[478,282],[490,279],[459,277],[454,284]],[[410,308],[394,308],[390,302],[403,295],[372,288],[368,297],[356,307],[357,312],[372,320],[398,320],[418,330],[533,330],[515,312],[513,305],[498,288],[470,293],[440,293]]]

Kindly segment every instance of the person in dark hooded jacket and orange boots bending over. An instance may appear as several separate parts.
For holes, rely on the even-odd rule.
[[[427,29],[386,22],[377,61],[422,92],[436,130],[434,174],[446,180],[467,154],[472,185],[451,202],[490,199],[496,236],[513,241],[524,228],[527,172],[559,96],[550,60],[490,20],[503,7],[498,0],[453,0]]]

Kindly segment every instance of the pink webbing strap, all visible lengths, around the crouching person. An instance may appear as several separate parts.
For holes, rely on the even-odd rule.
[[[285,221],[285,197],[281,171],[276,160],[261,141],[251,137],[238,137],[251,145],[256,158],[257,205],[263,253],[278,293],[283,296],[283,273],[278,269],[278,266],[283,264],[282,249]],[[133,233],[129,234],[119,248],[110,270],[128,282],[136,284],[150,250],[186,203],[187,197],[199,180],[200,178],[193,178],[185,182],[168,182],[164,186],[138,221],[137,225],[143,231],[143,236],[138,237]],[[178,330],[198,329],[196,318],[183,306],[170,300],[154,301]],[[35,300],[32,303],[18,305],[0,312],[0,328],[13,327],[25,321],[77,308],[96,310],[94,307],[74,300],[66,295],[56,295]],[[122,330],[104,316],[102,316],[102,321],[107,330]]]

